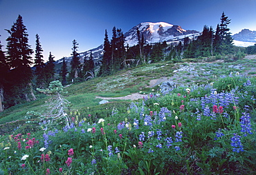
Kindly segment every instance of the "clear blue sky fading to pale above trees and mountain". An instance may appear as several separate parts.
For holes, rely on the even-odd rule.
[[[0,41],[6,50],[5,29],[20,14],[31,48],[39,34],[44,60],[49,52],[58,60],[71,56],[74,39],[78,52],[101,45],[105,30],[111,39],[113,26],[125,33],[142,22],[166,22],[201,32],[203,25],[215,29],[222,12],[231,19],[232,34],[256,30],[256,0],[0,0]]]

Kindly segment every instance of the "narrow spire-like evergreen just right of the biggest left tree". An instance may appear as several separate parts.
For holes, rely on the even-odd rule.
[[[44,56],[42,55],[42,45],[39,41],[39,35],[36,34],[35,41],[35,76],[36,76],[36,85],[37,88],[44,88],[46,84],[46,74],[44,72],[45,63]]]

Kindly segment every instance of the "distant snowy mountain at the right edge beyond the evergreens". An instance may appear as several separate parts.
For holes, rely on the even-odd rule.
[[[232,35],[232,38],[234,39],[234,45],[237,46],[248,47],[250,45],[255,45],[256,31],[243,29],[238,34]]]

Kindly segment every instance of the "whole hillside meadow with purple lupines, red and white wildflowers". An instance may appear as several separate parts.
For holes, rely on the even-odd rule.
[[[60,91],[71,103],[59,119],[42,114],[51,96],[39,94],[1,116],[10,123],[1,125],[0,174],[256,174],[255,74],[234,66],[246,63],[255,65],[196,64],[199,76],[179,72],[165,94],[148,85],[174,76],[171,62],[77,83]],[[137,101],[94,98],[138,91]]]

